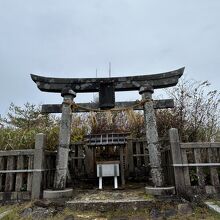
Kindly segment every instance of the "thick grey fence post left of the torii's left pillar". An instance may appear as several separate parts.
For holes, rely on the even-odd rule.
[[[45,142],[46,135],[42,133],[36,135],[34,151],[34,172],[31,190],[32,199],[39,199],[42,195]]]

